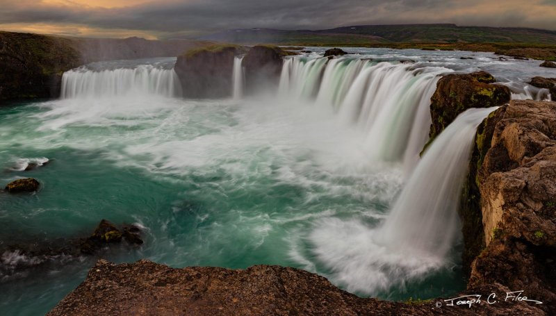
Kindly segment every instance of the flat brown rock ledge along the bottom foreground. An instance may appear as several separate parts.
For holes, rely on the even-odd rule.
[[[509,290],[482,285],[466,294],[492,292],[500,297]],[[443,299],[414,304],[365,299],[291,267],[174,269],[148,260],[121,265],[99,260],[47,315],[544,315],[525,302],[446,305]]]

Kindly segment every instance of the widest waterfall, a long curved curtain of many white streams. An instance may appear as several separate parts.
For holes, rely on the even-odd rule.
[[[416,165],[427,142],[430,98],[443,67],[377,63],[361,58],[284,60],[279,94],[313,99],[367,133],[370,158]]]

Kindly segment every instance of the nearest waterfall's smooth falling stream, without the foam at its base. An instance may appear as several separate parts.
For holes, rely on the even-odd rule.
[[[427,149],[382,227],[384,242],[443,258],[459,232],[457,208],[475,140],[496,108],[461,113]]]

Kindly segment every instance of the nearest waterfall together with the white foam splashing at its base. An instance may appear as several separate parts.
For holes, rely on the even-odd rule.
[[[351,291],[376,294],[450,263],[475,131],[493,110],[467,110],[434,140],[382,226],[371,229],[339,219],[319,223],[310,240],[335,281]]]

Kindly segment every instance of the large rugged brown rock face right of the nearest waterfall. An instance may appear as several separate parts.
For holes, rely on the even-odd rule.
[[[525,290],[556,313],[556,102],[511,101],[477,131],[482,251],[469,285]]]

